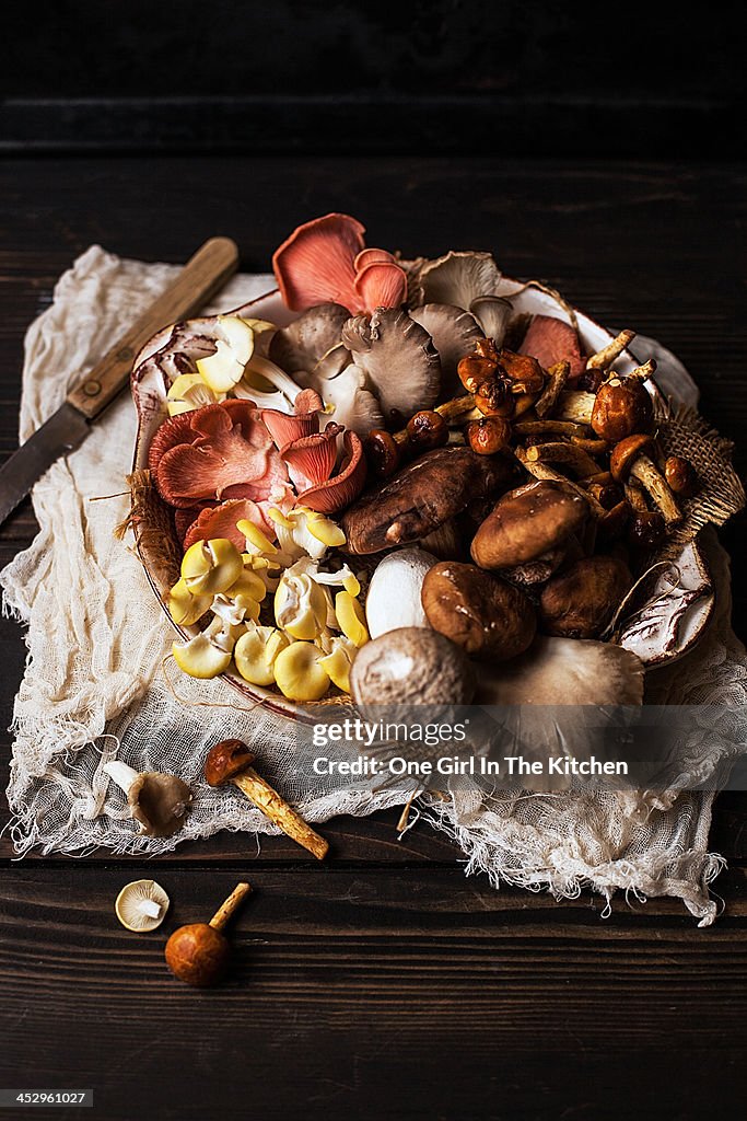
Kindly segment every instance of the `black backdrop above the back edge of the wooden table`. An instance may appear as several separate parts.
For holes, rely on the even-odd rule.
[[[638,0],[16,2],[0,143],[731,159],[743,22]]]

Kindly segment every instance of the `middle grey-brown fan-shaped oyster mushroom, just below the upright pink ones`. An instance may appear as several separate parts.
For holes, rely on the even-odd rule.
[[[376,308],[356,315],[343,327],[343,342],[353,352],[385,420],[430,409],[441,388],[441,363],[424,327],[402,308]]]

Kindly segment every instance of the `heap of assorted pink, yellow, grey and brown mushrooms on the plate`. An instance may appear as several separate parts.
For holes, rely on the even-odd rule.
[[[465,702],[550,639],[605,636],[698,479],[657,448],[654,362],[615,370],[633,332],[585,355],[498,295],[488,253],[407,262],[363,233],[332,214],[280,247],[290,325],[177,324],[143,363],[185,547],[168,605],[202,627],[174,654],[297,701]]]

